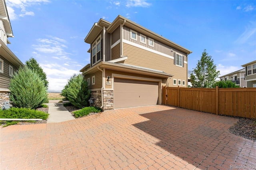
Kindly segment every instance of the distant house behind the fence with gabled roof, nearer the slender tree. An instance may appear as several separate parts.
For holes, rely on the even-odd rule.
[[[233,83],[236,83],[236,85],[239,85],[240,87],[246,87],[246,80],[245,80],[245,68],[240,69],[238,71],[234,71],[232,73],[222,75],[220,78],[220,81],[227,81],[230,80]]]

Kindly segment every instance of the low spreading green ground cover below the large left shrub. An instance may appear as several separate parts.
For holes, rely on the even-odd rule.
[[[17,108],[12,107],[8,110],[0,110],[0,118],[2,119],[43,119],[46,120],[49,114],[44,113],[42,111],[36,111],[33,109],[26,108]],[[7,127],[9,125],[15,125],[19,121],[0,121],[0,124],[3,124],[3,127]],[[26,122],[34,122],[34,121],[26,121]]]

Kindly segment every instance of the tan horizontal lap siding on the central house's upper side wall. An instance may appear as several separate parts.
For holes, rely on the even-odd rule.
[[[145,49],[141,49],[127,43],[123,44],[123,55],[128,56],[128,59],[124,61],[125,64],[164,71],[165,73],[174,75],[172,79],[177,79],[177,81],[178,79],[185,80],[187,85],[188,80],[186,63],[184,63],[184,67],[177,66],[174,64],[174,59],[153,53],[151,51],[147,51]],[[172,85],[173,83],[170,84]]]

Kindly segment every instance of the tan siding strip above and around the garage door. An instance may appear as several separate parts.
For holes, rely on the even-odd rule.
[[[123,71],[117,71],[117,70],[110,70],[110,69],[106,69],[105,71],[105,77],[107,77],[108,75],[110,75],[110,79],[111,79],[111,85],[106,85],[106,80],[105,79],[105,88],[112,88],[112,74],[121,74],[121,75],[131,75],[131,76],[135,76],[135,77],[146,77],[146,78],[152,78],[152,79],[162,79],[159,77],[154,77],[154,76],[148,76],[148,75],[141,75],[141,74],[136,74],[136,73],[127,73],[127,72],[123,72]],[[164,83],[163,85],[165,85],[166,79],[162,79],[162,83]]]

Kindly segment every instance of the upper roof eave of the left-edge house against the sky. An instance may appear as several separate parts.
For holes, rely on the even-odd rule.
[[[0,0],[0,20],[4,23],[4,29],[7,37],[14,37],[12,33],[12,26],[8,16],[5,0]]]

